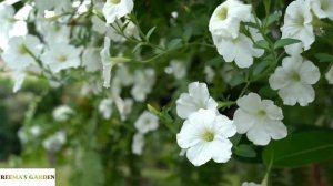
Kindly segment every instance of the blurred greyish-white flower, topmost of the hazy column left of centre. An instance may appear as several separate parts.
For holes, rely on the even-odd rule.
[[[155,83],[155,71],[153,69],[137,70],[134,72],[134,85],[131,95],[138,102],[143,102],[152,91]]]

